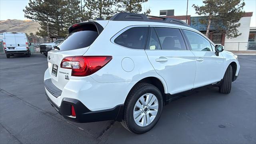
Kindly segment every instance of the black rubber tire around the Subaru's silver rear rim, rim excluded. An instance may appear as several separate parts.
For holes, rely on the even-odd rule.
[[[137,100],[143,96],[144,94],[151,93],[154,94],[158,100],[158,112],[156,114],[155,119],[148,124],[147,126],[138,126],[133,118],[133,110],[134,106],[137,102]],[[124,116],[121,124],[126,128],[128,131],[134,133],[134,134],[143,134],[145,132],[148,132],[150,129],[152,129],[156,123],[158,122],[163,108],[163,98],[160,90],[152,85],[147,83],[138,83],[130,93],[128,94],[128,97],[126,98],[126,102],[124,104]]]

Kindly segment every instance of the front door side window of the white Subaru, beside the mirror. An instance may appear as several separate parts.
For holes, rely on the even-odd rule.
[[[184,30],[184,32],[188,38],[188,42],[192,50],[212,51],[211,44],[206,38],[190,30]]]

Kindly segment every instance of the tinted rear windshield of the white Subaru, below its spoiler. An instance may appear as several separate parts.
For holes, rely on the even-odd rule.
[[[99,36],[97,28],[91,24],[74,29],[58,47],[60,50],[76,50],[90,46]]]

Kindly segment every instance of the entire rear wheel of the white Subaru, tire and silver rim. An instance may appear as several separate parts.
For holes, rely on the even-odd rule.
[[[156,125],[162,108],[160,90],[152,84],[139,83],[128,94],[121,123],[130,132],[143,134]]]

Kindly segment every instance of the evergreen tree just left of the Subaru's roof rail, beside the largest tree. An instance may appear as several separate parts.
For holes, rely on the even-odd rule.
[[[89,19],[108,19],[114,14],[115,2],[115,0],[84,0],[84,6],[87,9],[86,14]]]

